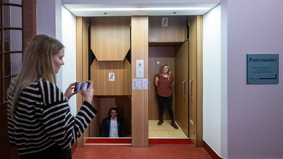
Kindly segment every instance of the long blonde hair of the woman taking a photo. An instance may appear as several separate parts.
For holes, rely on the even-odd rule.
[[[12,115],[22,91],[30,83],[42,78],[56,84],[56,72],[53,66],[53,55],[63,49],[63,44],[48,35],[36,35],[23,53],[23,66],[20,74],[7,90],[13,96],[9,115]]]

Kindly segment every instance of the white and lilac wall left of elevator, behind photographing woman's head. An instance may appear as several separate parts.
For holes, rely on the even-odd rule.
[[[37,34],[47,34],[65,46],[65,65],[57,73],[57,86],[65,92],[76,81],[76,25],[75,17],[63,6],[61,0],[37,0]],[[62,18],[64,17],[64,18]],[[76,95],[69,105],[73,115],[77,112]]]

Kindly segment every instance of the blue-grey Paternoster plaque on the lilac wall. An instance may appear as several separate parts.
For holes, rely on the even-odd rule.
[[[279,54],[247,54],[247,84],[278,84]]]

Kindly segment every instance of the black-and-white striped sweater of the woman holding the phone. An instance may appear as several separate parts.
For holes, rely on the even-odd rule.
[[[12,100],[12,96],[7,96],[8,112]],[[55,144],[70,149],[96,113],[84,101],[78,114],[71,115],[63,92],[54,83],[39,79],[21,93],[14,114],[8,115],[9,142],[20,155],[40,152]]]

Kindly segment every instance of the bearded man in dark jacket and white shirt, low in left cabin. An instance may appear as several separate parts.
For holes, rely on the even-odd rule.
[[[122,119],[117,117],[117,108],[111,108],[110,113],[110,117],[103,119],[101,137],[124,137],[124,126]]]

